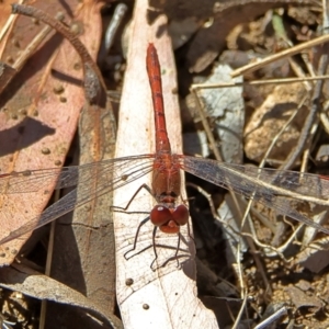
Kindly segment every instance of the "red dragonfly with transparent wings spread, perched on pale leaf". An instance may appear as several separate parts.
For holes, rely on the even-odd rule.
[[[150,212],[150,220],[163,232],[178,234],[180,226],[185,225],[189,218],[185,205],[177,204],[181,190],[181,170],[218,186],[232,190],[247,198],[251,197],[276,209],[282,215],[329,235],[329,229],[298,211],[302,203],[329,206],[329,178],[172,154],[166,128],[160,65],[154,44],[149,44],[147,49],[147,71],[155,110],[156,152],[61,169],[26,170],[0,175],[0,191],[5,191],[5,193],[46,190],[54,179],[57,179],[56,189],[77,184],[80,186],[79,193],[75,190],[42,214],[35,214],[27,219],[26,224],[0,240],[0,245],[48,224],[94,197],[122,188],[149,172],[152,172],[152,183],[151,189],[147,189],[158,203]],[[94,188],[91,189],[88,184],[88,188],[83,189],[83,183],[94,180],[98,181]],[[0,214],[0,222],[2,219],[2,214]]]

